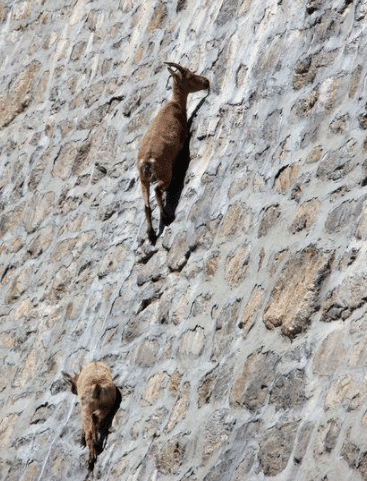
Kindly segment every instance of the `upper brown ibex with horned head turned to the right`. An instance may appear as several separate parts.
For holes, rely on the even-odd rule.
[[[163,208],[163,194],[172,179],[174,162],[189,134],[187,123],[187,97],[191,92],[209,89],[209,80],[196,75],[177,63],[165,62],[173,77],[173,96],[158,112],[147,128],[139,149],[138,171],[145,204],[147,234],[155,244],[157,235],[152,227],[152,211],[149,203],[150,183],[156,181],[155,196],[160,210],[158,235],[167,224]],[[172,68],[176,70],[172,70]]]

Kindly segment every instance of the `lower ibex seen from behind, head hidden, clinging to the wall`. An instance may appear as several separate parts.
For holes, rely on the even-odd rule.
[[[71,377],[63,372],[71,392],[76,394],[82,410],[84,445],[89,449],[89,468],[93,469],[100,452],[98,429],[101,422],[114,415],[117,388],[113,383],[111,372],[103,362],[90,362],[80,374]],[[99,451],[98,451],[99,450]]]

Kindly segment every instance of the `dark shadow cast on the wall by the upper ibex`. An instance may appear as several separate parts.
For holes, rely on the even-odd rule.
[[[162,223],[160,223],[159,232],[163,231],[163,228],[165,225],[168,226],[172,224],[172,222],[175,220],[176,209],[180,201],[182,190],[185,184],[186,172],[187,172],[187,169],[189,168],[190,161],[191,161],[190,140],[192,136],[192,132],[191,132],[192,123],[200,107],[205,102],[206,97],[207,96],[203,97],[200,100],[200,102],[195,107],[193,113],[191,114],[190,118],[187,121],[187,125],[189,127],[189,134],[173,166],[172,180],[167,189],[167,195],[164,203],[165,223],[163,225]]]

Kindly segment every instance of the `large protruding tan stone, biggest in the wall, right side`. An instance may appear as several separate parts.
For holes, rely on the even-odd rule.
[[[321,283],[329,273],[332,257],[330,252],[308,247],[289,259],[264,312],[268,329],[281,326],[282,334],[289,337],[306,329],[317,310]]]

